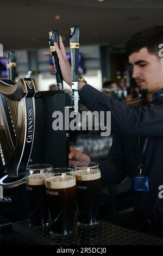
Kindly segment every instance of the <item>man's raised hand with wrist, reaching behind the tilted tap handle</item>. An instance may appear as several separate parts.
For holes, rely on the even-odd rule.
[[[62,72],[62,76],[64,78],[64,81],[71,86],[71,65],[67,60],[66,57],[66,51],[65,51],[65,46],[63,44],[61,35],[59,35],[59,46],[57,44],[57,42],[54,42],[54,46],[55,46],[55,51],[57,52],[58,58],[59,58],[59,65],[60,65],[60,69]],[[44,52],[44,55],[50,56],[51,52]],[[49,66],[50,70],[54,70],[53,66],[50,65]],[[85,85],[84,82],[79,82],[79,90],[82,89],[82,87]]]

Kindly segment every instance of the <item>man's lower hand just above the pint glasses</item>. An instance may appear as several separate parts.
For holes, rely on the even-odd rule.
[[[90,162],[90,156],[82,153],[81,151],[74,149],[70,146],[70,154],[68,155],[69,164],[75,164],[80,162]]]

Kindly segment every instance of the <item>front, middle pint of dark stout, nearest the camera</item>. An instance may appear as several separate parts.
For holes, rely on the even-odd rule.
[[[53,176],[46,179],[46,196],[51,234],[73,234],[76,179],[74,176]]]

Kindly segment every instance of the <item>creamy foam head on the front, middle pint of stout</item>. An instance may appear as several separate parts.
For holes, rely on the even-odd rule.
[[[74,176],[53,176],[46,179],[45,185],[48,189],[68,188],[76,185]]]

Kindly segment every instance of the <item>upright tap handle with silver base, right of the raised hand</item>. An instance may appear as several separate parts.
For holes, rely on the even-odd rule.
[[[79,89],[78,89],[78,59],[79,59],[79,27],[70,28],[70,50],[71,50],[71,71],[72,71],[72,107],[74,112],[79,109]]]

